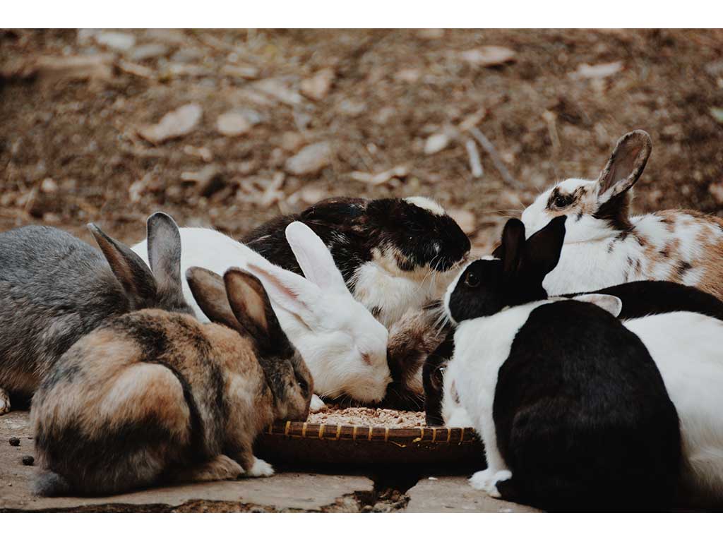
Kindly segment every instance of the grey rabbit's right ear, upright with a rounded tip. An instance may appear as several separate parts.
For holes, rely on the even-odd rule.
[[[155,212],[146,223],[148,262],[158,288],[181,294],[181,234],[174,219]]]

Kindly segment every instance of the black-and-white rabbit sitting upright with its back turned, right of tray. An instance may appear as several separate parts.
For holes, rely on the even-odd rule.
[[[457,324],[448,371],[484,441],[471,485],[547,510],[667,509],[681,469],[675,406],[643,342],[591,303],[547,298],[565,217],[525,241],[511,219],[498,257],[445,293]]]

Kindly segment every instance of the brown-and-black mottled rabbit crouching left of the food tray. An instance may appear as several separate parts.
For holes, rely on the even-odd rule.
[[[309,370],[257,278],[197,267],[186,277],[216,323],[159,309],[124,314],[82,337],[43,379],[30,412],[36,494],[273,475],[254,457],[254,439],[277,418],[307,418]]]

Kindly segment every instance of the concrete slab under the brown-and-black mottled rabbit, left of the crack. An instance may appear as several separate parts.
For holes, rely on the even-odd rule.
[[[30,493],[37,466],[22,464],[34,455],[28,413],[0,416],[0,511],[238,511],[358,512],[372,499],[374,483],[365,476],[279,473],[271,478],[168,486],[98,498],[40,498]],[[11,446],[9,439],[20,439]]]

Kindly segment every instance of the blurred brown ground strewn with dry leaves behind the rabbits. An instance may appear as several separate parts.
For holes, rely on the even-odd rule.
[[[487,251],[638,128],[633,209],[723,216],[722,30],[0,30],[0,231],[424,195]]]

